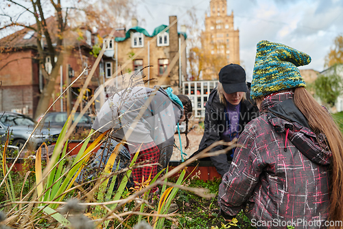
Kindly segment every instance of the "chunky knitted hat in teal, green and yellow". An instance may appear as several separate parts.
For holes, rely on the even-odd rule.
[[[267,96],[275,91],[306,87],[298,66],[308,65],[311,57],[304,52],[281,43],[257,43],[250,96],[252,99]]]

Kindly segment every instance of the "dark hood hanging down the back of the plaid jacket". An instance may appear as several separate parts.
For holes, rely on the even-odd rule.
[[[282,97],[287,98],[283,100]],[[268,122],[276,133],[286,133],[287,139],[309,160],[322,165],[331,163],[332,153],[325,143],[325,136],[311,131],[307,119],[294,104],[292,96],[271,96],[268,101],[263,100],[261,107],[267,110]]]

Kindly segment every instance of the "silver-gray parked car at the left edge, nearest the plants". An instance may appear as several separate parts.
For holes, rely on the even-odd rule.
[[[10,145],[18,146],[19,149],[23,147],[29,135],[34,130],[36,122],[24,116],[21,113],[14,113],[5,111],[0,113],[0,141],[5,144],[7,140],[8,129],[10,130]],[[61,129],[47,129],[45,127],[37,128],[29,142],[27,142],[26,149],[36,150],[43,143],[56,142]]]

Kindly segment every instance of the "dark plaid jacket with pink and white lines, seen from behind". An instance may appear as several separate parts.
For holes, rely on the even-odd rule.
[[[258,228],[324,228],[329,212],[331,152],[309,129],[293,94],[263,101],[259,118],[241,133],[220,184],[222,212],[244,209]],[[314,224],[316,223],[316,224]],[[289,224],[287,224],[288,226]]]

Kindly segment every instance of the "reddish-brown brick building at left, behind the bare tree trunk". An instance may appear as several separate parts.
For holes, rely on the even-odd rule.
[[[47,27],[50,34],[56,30],[56,20],[50,17],[47,21]],[[32,25],[36,28],[36,25]],[[80,36],[80,33],[83,34]],[[43,68],[49,74],[52,69],[50,57],[45,57],[45,65],[38,63],[38,50],[36,32],[24,28],[14,34],[0,39],[0,111],[17,111],[34,117],[38,100],[45,85],[43,77]],[[52,37],[52,43],[56,43],[56,38]],[[52,102],[60,95],[62,89],[78,76],[85,66],[93,66],[95,57],[89,54],[92,45],[95,42],[95,36],[90,30],[80,29],[78,32],[69,32],[64,38],[64,47],[71,47],[70,52],[64,52],[64,60],[60,66],[60,74],[56,78],[55,91],[52,94]],[[45,40],[42,39],[43,48],[46,47]],[[55,57],[57,58],[57,57]],[[88,72],[85,73],[87,75]],[[61,78],[62,76],[62,78]],[[78,80],[71,88],[70,98],[62,98],[62,102],[56,102],[51,111],[67,111],[67,107],[72,107],[75,98],[77,98],[80,87],[83,86],[85,79]],[[88,98],[99,86],[99,70],[97,70],[88,85]],[[86,101],[84,101],[86,102]],[[69,104],[68,104],[69,103]],[[90,111],[91,112],[91,111]]]

